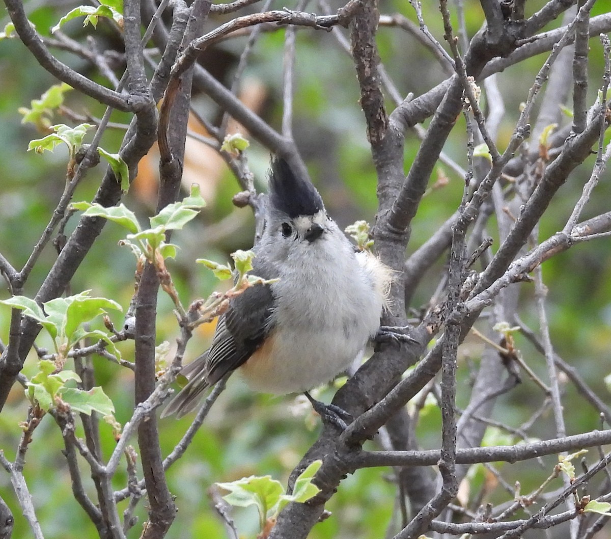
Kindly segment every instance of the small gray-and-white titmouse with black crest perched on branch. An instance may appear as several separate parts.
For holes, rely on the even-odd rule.
[[[355,252],[310,180],[280,158],[271,163],[265,228],[253,251],[252,273],[278,281],[231,299],[162,417],[196,408],[208,386],[238,368],[257,391],[312,400],[307,391],[346,370],[378,333],[392,271]]]

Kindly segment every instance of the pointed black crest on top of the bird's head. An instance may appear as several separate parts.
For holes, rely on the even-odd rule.
[[[274,208],[291,219],[314,215],[324,208],[323,199],[308,178],[298,177],[287,161],[276,157],[271,161],[269,197]]]

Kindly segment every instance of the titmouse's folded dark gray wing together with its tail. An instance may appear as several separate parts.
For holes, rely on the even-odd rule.
[[[256,262],[257,259],[253,273],[270,279]],[[274,296],[269,285],[255,285],[233,298],[229,309],[219,318],[210,348],[181,370],[189,383],[170,401],[161,417],[189,413],[208,386],[243,365],[272,329],[273,308]]]

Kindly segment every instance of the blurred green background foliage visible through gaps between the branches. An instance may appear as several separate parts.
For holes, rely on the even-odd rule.
[[[529,13],[535,12],[545,2],[527,2]],[[604,12],[605,2],[598,2],[593,15]],[[38,31],[48,34],[47,29],[56,24],[78,2],[71,0],[31,0],[26,2],[26,11]],[[274,9],[282,9],[284,3],[275,2]],[[339,4],[338,4],[339,5]],[[338,5],[336,7],[338,7]],[[312,5],[312,10],[315,7]],[[382,0],[382,13],[402,13],[416,21],[408,2]],[[480,3],[475,0],[464,2],[467,29],[472,35],[483,21]],[[437,2],[423,2],[425,21],[430,31],[443,42],[442,22]],[[224,21],[225,17],[212,17],[210,28]],[[5,11],[0,12],[0,24],[8,22]],[[555,24],[558,26],[558,23]],[[547,28],[546,28],[547,29]],[[117,31],[105,20],[100,20],[97,30],[82,29],[79,21],[73,21],[64,28],[74,39],[82,39],[92,33],[98,48],[120,49]],[[230,84],[237,60],[243,50],[246,38],[221,42],[211,49],[203,64],[225,84]],[[275,128],[279,128],[282,117],[282,47],[284,31],[263,32],[256,43],[246,77],[240,87],[241,99],[255,109]],[[397,84],[402,95],[422,92],[441,82],[445,76],[429,51],[424,50],[408,33],[397,28],[380,28],[378,45],[382,60]],[[596,97],[601,84],[603,60],[597,39],[590,42],[590,103]],[[57,56],[68,64],[79,68],[89,76],[96,76],[92,68],[82,60],[64,52]],[[536,71],[546,55],[526,60],[499,74],[507,109],[500,125],[498,145],[503,149],[511,136],[519,114],[519,103],[527,95]],[[297,32],[297,57],[295,71],[294,133],[302,156],[309,166],[313,181],[321,191],[327,209],[340,226],[346,226],[356,219],[373,222],[376,202],[376,175],[365,138],[365,127],[360,111],[359,90],[351,58],[337,47],[334,37],[326,32],[299,30]],[[40,237],[48,222],[57,200],[62,193],[65,178],[67,153],[58,147],[54,153],[36,155],[26,152],[30,139],[39,138],[32,125],[21,125],[18,108],[29,106],[32,99],[57,84],[16,39],[0,42],[0,251],[16,268],[27,260],[32,246]],[[194,104],[209,119],[218,121],[219,111],[205,95],[195,95]],[[69,92],[65,106],[76,114],[90,114],[101,117],[103,108],[77,92]],[[392,103],[388,102],[389,111]],[[126,123],[129,118],[114,112],[112,121]],[[566,122],[569,119],[565,119]],[[56,115],[53,123],[72,122],[68,117]],[[202,128],[194,122],[194,130]],[[247,133],[245,133],[248,137]],[[121,128],[111,129],[104,134],[101,146],[109,152],[117,152],[123,137]],[[258,186],[265,185],[269,152],[255,141],[251,141],[247,156]],[[413,134],[405,145],[406,172],[417,152],[419,141]],[[458,119],[456,128],[445,145],[448,153],[457,163],[466,167],[466,133],[464,120]],[[587,164],[590,165],[594,157]],[[125,204],[144,219],[150,216],[155,205],[156,156],[152,151],[141,163],[139,175]],[[89,172],[76,191],[75,200],[92,199],[98,182],[103,175],[102,165]],[[542,239],[562,229],[570,210],[581,192],[588,175],[587,167],[581,167],[569,183],[558,194],[553,208],[544,216],[540,227]],[[442,185],[432,189],[423,199],[414,221],[412,240],[408,255],[427,240],[431,233],[452,215],[463,193],[463,178],[447,167],[439,166],[436,177]],[[198,182],[208,202],[197,222],[189,224],[186,230],[177,233],[173,241],[181,250],[169,269],[177,284],[183,303],[207,296],[218,282],[202,268],[194,264],[198,257],[225,262],[230,252],[252,245],[253,219],[249,209],[238,209],[231,203],[232,196],[240,188],[218,156],[200,142],[189,141],[185,158],[185,186]],[[585,212],[585,218],[609,210],[611,187],[607,172],[598,186],[596,196]],[[77,219],[68,223],[67,233],[76,225]],[[497,240],[494,218],[488,232]],[[134,259],[128,249],[120,248],[117,241],[123,236],[120,227],[107,224],[92,251],[77,271],[71,293],[92,289],[93,295],[106,296],[118,301],[124,309],[133,293]],[[493,246],[496,249],[498,242]],[[27,282],[26,295],[34,296],[49,267],[56,259],[56,252],[49,244]],[[599,395],[608,400],[609,392],[603,378],[609,373],[609,350],[611,349],[611,249],[607,240],[593,241],[574,247],[569,252],[546,262],[543,266],[544,281],[549,287],[549,320],[555,350],[573,364]],[[442,260],[425,279],[415,296],[411,307],[417,309],[426,304],[436,288],[444,271]],[[533,328],[537,326],[536,310],[533,303],[533,285],[522,285],[522,318]],[[6,288],[0,290],[0,297],[6,298]],[[174,342],[177,323],[171,311],[170,301],[161,293],[159,303],[157,340]],[[117,326],[122,325],[118,316],[113,317]],[[9,331],[9,310],[0,309],[0,339],[6,342]],[[189,343],[190,361],[204,350],[210,339],[213,325],[202,326]],[[43,336],[38,345],[45,347]],[[546,376],[544,358],[518,336],[518,346],[531,367],[543,378]],[[122,343],[122,353],[133,360],[130,342]],[[469,396],[469,364],[476,364],[482,345],[470,337],[462,348],[463,361],[460,365],[461,385],[458,405],[464,407]],[[105,359],[94,358],[98,383],[115,403],[117,419],[125,423],[133,409],[133,380],[129,370],[110,364]],[[31,376],[35,371],[35,354],[26,361],[24,373]],[[570,384],[563,384],[563,402],[567,410],[568,434],[598,428],[599,418],[580,400]],[[329,400],[332,388],[323,391],[321,398]],[[534,395],[534,396],[533,396]],[[497,404],[496,416],[508,424],[519,426],[540,405],[540,393],[533,391],[532,382],[524,380],[521,387],[511,392]],[[26,417],[27,403],[23,390],[15,387],[10,400],[0,415],[0,448],[9,459],[14,458],[20,436],[18,422]],[[178,442],[192,417],[176,421],[166,419],[161,424],[163,452],[167,454]],[[417,435],[425,449],[439,447],[441,417],[434,405],[427,405],[417,427]],[[205,425],[196,436],[185,457],[170,469],[168,478],[172,493],[177,496],[180,509],[178,520],[167,537],[225,537],[225,531],[211,508],[208,488],[216,481],[230,481],[246,475],[271,474],[286,482],[288,473],[298,463],[301,455],[315,441],[318,421],[307,406],[295,402],[295,398],[269,397],[253,394],[241,381],[234,377],[227,391],[214,406]],[[111,429],[101,427],[105,454],[109,455],[114,441]],[[541,417],[534,436],[545,438],[554,434],[551,416]],[[135,441],[134,441],[135,443]],[[498,441],[496,442],[498,443]],[[42,523],[45,536],[49,539],[71,539],[95,537],[93,525],[87,520],[81,508],[75,503],[70,479],[63,457],[62,438],[51,417],[35,431],[34,441],[27,453],[26,479],[34,493],[35,507]],[[505,479],[511,484],[516,479],[522,482],[522,492],[539,485],[554,464],[546,460],[545,468],[529,468],[527,464],[505,466]],[[527,473],[524,473],[527,472]],[[83,475],[87,471],[83,468]],[[494,479],[481,466],[470,474],[471,491],[475,493],[483,482]],[[348,477],[327,508],[331,518],[318,524],[312,536],[316,539],[336,538],[379,538],[384,535],[393,511],[394,488],[390,483],[389,470],[364,469]],[[115,487],[125,486],[126,475],[117,474]],[[560,486],[560,480],[558,485]],[[92,489],[92,485],[89,485]],[[12,507],[16,524],[13,537],[29,537],[29,529],[21,518],[12,496],[9,477],[0,473],[0,495]],[[507,499],[507,494],[495,494],[489,501],[498,503]],[[125,504],[125,502],[122,502]],[[145,518],[142,510],[139,516]],[[122,506],[121,506],[122,507]],[[235,512],[238,529],[245,537],[257,532],[257,518],[254,509]],[[129,537],[139,537],[139,526],[130,531]]]

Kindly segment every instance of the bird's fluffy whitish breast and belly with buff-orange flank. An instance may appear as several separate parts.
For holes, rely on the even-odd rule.
[[[343,235],[312,249],[315,243],[290,252],[272,285],[273,338],[241,368],[257,391],[303,392],[325,383],[378,331],[391,271],[371,254],[354,254]]]

